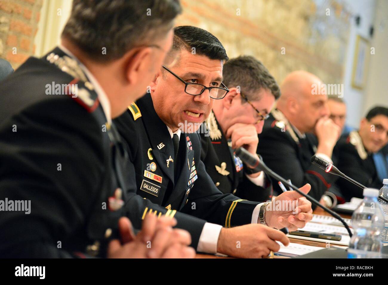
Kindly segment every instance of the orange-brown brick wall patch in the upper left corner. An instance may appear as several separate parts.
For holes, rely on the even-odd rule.
[[[0,57],[17,68],[34,54],[43,0],[0,0]]]

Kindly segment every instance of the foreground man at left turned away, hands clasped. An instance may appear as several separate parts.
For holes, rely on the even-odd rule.
[[[166,217],[147,216],[133,235],[135,177],[112,123],[161,66],[180,10],[175,0],[74,0],[62,44],[2,81],[0,257],[194,256]]]

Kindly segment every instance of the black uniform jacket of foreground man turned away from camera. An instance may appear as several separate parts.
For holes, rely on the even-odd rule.
[[[77,97],[50,95],[68,83]],[[59,48],[0,83],[0,257],[104,257],[117,238],[127,154],[93,89]],[[1,200],[30,200],[30,213]]]

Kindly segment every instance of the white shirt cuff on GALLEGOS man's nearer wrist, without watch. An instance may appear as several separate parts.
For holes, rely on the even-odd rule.
[[[217,253],[217,242],[222,226],[212,223],[205,223],[201,236],[199,237],[197,251],[205,253]]]

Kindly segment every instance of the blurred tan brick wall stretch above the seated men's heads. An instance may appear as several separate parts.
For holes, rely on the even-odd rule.
[[[317,74],[328,84],[342,81],[350,28],[350,12],[342,0],[181,2],[184,12],[177,25],[210,31],[230,58],[255,56],[279,83],[297,69]],[[330,9],[330,15],[326,9]]]

